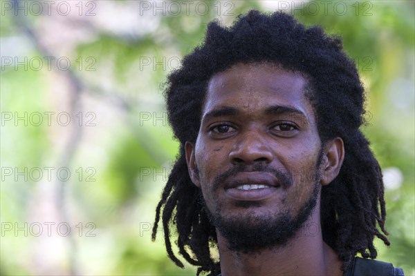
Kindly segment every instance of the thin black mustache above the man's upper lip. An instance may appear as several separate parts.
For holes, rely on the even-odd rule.
[[[283,172],[282,170],[271,168],[270,166],[267,166],[263,163],[257,163],[253,165],[237,164],[232,168],[221,172],[221,174],[214,179],[212,190],[218,189],[223,181],[232,177],[233,175],[236,175],[238,172],[270,172],[277,178],[278,183],[282,186],[282,188],[286,189],[293,185],[293,179],[291,178],[291,175],[289,175],[287,172]]]

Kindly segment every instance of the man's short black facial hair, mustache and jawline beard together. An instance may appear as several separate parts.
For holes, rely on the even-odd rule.
[[[322,161],[322,152],[317,161],[317,165],[320,166]],[[318,167],[318,166],[317,166]],[[288,173],[275,170],[273,168],[267,168],[265,166],[254,166],[250,170],[272,172],[281,184],[281,188],[289,188],[292,186],[293,181]],[[232,177],[236,172],[248,171],[246,166],[237,166],[224,172],[219,177],[216,177],[212,186],[211,193],[219,188],[221,181],[227,177]],[[201,201],[204,206],[205,213],[207,214],[210,222],[221,233],[221,235],[228,242],[228,249],[235,253],[243,254],[255,254],[259,253],[259,250],[281,248],[299,233],[299,230],[304,227],[304,223],[313,213],[315,206],[317,205],[317,199],[320,194],[319,186],[319,170],[316,169],[312,177],[313,190],[308,200],[299,208],[297,216],[293,217],[291,212],[286,208],[279,213],[268,213],[264,215],[257,215],[252,210],[248,211],[241,216],[223,217],[221,215],[221,204],[216,201],[215,210],[211,212],[201,195]],[[289,204],[289,203],[287,203]],[[238,203],[239,207],[250,208],[259,206],[260,204],[255,201],[241,201]]]

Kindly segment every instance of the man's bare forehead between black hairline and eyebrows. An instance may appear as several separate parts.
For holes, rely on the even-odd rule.
[[[290,106],[314,117],[306,87],[307,81],[299,73],[267,63],[240,63],[210,79],[203,113],[231,106],[255,115],[269,106]]]

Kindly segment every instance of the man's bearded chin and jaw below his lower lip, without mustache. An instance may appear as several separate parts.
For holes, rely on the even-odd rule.
[[[237,201],[232,208],[217,204],[213,212],[208,208],[205,210],[216,230],[227,240],[229,250],[258,253],[284,247],[296,236],[318,206],[318,192],[316,185],[311,197],[295,216],[290,209],[276,213],[277,206],[265,206],[261,201]]]

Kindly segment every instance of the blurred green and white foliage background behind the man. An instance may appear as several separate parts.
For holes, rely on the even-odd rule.
[[[209,21],[252,8],[342,35],[385,178],[378,258],[415,274],[414,1],[0,3],[1,275],[195,275],[151,242],[178,150],[163,83]]]

